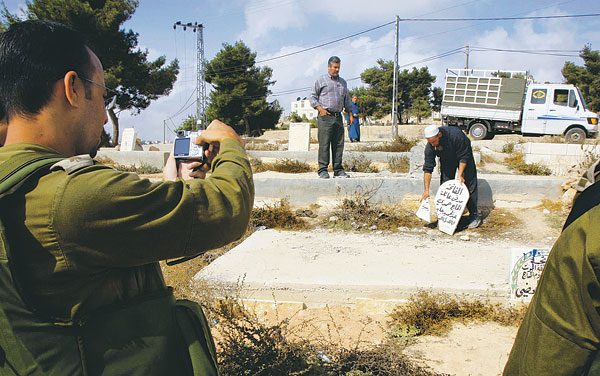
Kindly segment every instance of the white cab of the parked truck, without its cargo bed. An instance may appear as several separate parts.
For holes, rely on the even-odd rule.
[[[587,110],[573,85],[529,84],[522,116],[523,135],[565,135],[579,143],[598,134],[598,115]]]

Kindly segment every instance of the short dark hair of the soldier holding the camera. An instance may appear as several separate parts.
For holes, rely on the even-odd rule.
[[[69,71],[92,75],[85,38],[53,21],[24,21],[0,34],[0,118],[35,115]]]

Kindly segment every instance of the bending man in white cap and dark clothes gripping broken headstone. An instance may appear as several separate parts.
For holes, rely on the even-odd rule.
[[[471,141],[458,127],[437,127],[430,125],[425,128],[425,163],[423,164],[423,181],[425,191],[421,200],[429,197],[431,174],[435,167],[435,158],[440,158],[440,185],[445,181],[458,179],[469,189],[469,228],[481,225],[477,214],[477,167],[473,158]],[[458,173],[457,173],[458,171]]]

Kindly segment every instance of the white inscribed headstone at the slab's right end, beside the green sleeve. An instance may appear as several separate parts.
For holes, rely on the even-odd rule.
[[[531,301],[550,250],[513,248],[510,257],[510,298]]]

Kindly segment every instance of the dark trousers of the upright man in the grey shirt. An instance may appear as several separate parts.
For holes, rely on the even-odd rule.
[[[329,166],[329,149],[333,157],[333,172],[344,171],[342,154],[344,153],[344,124],[342,115],[325,115],[317,119],[319,126],[319,173],[327,171]]]

